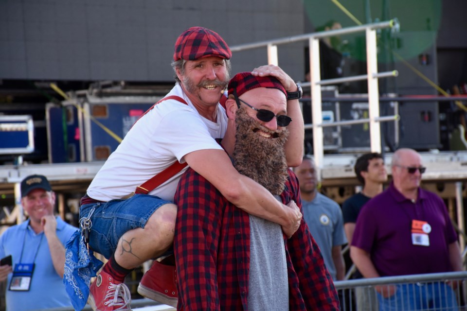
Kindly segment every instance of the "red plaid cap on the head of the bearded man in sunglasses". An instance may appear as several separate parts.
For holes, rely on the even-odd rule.
[[[240,72],[234,75],[229,82],[229,95],[234,94],[234,90],[236,90],[237,96],[241,96],[243,93],[256,87],[277,88],[287,97],[286,89],[277,78],[273,76],[253,76],[251,72]]]

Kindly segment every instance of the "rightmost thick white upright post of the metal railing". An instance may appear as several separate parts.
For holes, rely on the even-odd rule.
[[[370,149],[372,152],[381,153],[381,129],[376,118],[379,117],[379,91],[378,78],[374,75],[378,72],[376,30],[366,29],[366,62],[368,75],[368,114],[370,117]]]

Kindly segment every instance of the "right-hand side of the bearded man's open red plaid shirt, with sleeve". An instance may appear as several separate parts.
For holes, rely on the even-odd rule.
[[[303,213],[298,179],[290,170],[283,199],[285,203],[294,200]],[[286,241],[286,254],[290,310],[339,310],[334,283],[303,219],[297,232]]]

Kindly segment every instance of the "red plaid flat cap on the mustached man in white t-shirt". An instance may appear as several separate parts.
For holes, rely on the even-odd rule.
[[[191,27],[177,38],[174,61],[196,60],[207,56],[230,59],[232,52],[220,35],[207,28]]]

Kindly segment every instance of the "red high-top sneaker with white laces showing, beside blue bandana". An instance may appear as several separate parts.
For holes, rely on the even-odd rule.
[[[101,272],[89,289],[88,304],[94,311],[131,311],[131,294],[124,283]]]

